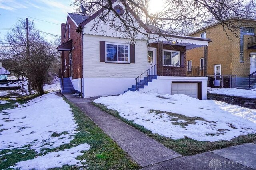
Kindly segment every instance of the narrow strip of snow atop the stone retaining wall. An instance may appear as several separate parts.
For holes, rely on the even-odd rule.
[[[245,98],[256,98],[256,91],[236,88],[208,88],[210,93],[240,96]]]

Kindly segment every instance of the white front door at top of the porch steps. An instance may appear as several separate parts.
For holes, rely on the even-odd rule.
[[[156,48],[148,48],[148,69],[156,64]],[[148,75],[156,75],[156,66],[148,71]]]

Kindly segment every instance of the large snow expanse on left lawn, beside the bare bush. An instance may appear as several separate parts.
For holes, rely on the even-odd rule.
[[[45,94],[19,108],[0,113],[0,150],[56,148],[70,143],[77,124],[69,105],[54,93]],[[53,136],[52,136],[53,135]],[[55,137],[54,137],[55,136]]]

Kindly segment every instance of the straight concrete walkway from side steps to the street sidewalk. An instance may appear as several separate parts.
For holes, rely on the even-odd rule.
[[[64,94],[64,96],[82,109],[94,123],[109,135],[140,166],[145,167],[182,156],[134,127],[127,125],[120,119],[90,104],[96,98],[84,99],[70,94]]]

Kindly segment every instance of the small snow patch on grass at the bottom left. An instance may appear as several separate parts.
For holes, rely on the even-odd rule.
[[[82,162],[86,160],[76,160],[77,156],[83,155],[81,151],[89,150],[90,145],[81,144],[76,147],[65,149],[63,151],[51,152],[44,156],[38,156],[31,160],[21,161],[16,163],[15,167],[10,168],[21,168],[22,170],[45,170],[49,168],[58,168],[63,165],[76,165],[82,166]]]

